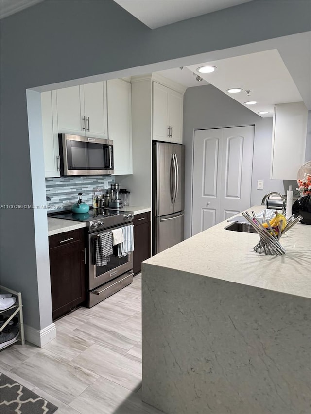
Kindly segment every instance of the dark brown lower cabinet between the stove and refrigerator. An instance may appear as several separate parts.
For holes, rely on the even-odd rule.
[[[134,216],[134,253],[133,272],[141,272],[141,262],[151,256],[150,253],[150,212]]]

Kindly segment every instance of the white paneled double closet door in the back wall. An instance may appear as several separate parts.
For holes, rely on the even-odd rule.
[[[192,235],[250,207],[254,127],[194,133]]]

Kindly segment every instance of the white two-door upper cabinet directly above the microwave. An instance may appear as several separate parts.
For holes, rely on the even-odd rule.
[[[106,81],[56,90],[59,133],[108,138]]]

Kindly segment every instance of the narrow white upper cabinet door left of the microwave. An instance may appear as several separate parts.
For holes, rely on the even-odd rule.
[[[41,93],[45,177],[60,177],[56,91]]]

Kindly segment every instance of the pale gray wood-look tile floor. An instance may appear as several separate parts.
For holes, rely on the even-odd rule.
[[[1,351],[1,372],[57,414],[160,414],[141,401],[141,275],[91,309],[55,322],[57,338]]]

